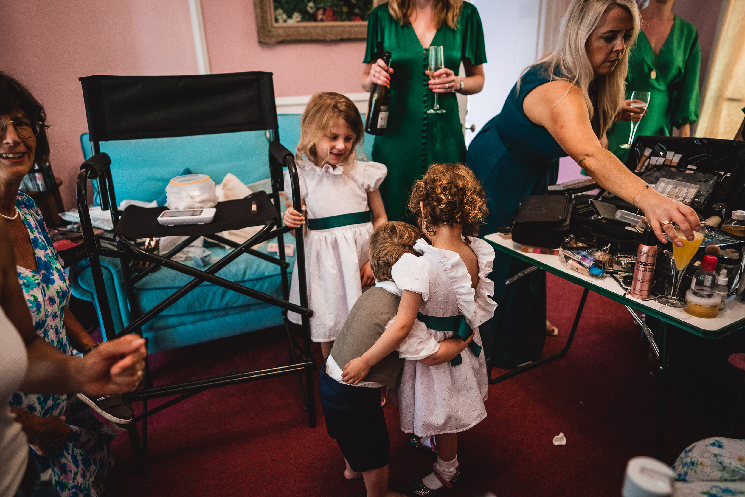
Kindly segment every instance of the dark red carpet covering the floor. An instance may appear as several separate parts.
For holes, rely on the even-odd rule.
[[[544,355],[565,343],[581,294],[548,278],[549,317],[560,332],[547,338]],[[640,335],[623,306],[591,293],[565,358],[490,387],[488,417],[460,437],[463,485],[451,495],[620,495],[627,460],[654,452],[655,380]],[[270,367],[286,355],[282,332],[273,329],[153,355],[151,364],[161,383]],[[732,398],[722,398],[720,385],[712,388],[695,364],[678,370],[694,373],[671,374],[668,463],[689,443],[726,433],[731,415]],[[724,389],[737,395],[737,387]],[[385,409],[389,487],[401,491],[431,471],[433,460],[408,447],[396,408]],[[319,402],[317,411],[310,429],[297,376],[199,393],[150,418],[145,476],[133,474],[126,434],[115,440],[108,495],[364,496],[362,481],[343,478]],[[551,443],[559,431],[566,446]]]

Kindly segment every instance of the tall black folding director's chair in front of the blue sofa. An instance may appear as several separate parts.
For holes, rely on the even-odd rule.
[[[224,376],[153,387],[148,367],[145,370],[144,387],[125,396],[130,402],[142,402],[142,414],[135,418],[133,428],[129,430],[136,471],[139,474],[145,472],[144,455],[147,452],[148,417],[209,388],[297,374],[302,403],[305,411],[308,412],[308,425],[313,428],[316,424],[316,414],[312,371],[316,369],[316,364],[311,355],[308,323],[308,317],[313,313],[308,309],[302,228],[297,229],[295,240],[299,265],[300,305],[289,302],[287,275],[289,263],[285,260],[283,235],[291,231],[291,228],[282,227],[279,216],[281,212],[279,191],[284,189],[283,166],[286,166],[290,172],[293,205],[297,210],[300,210],[300,190],[294,156],[279,143],[272,74],[270,72],[241,72],[187,76],[97,75],[81,77],[80,81],[83,85],[89,137],[94,155],[80,166],[80,173],[77,176],[77,208],[80,212],[80,226],[83,230],[95,286],[95,297],[98,301],[103,326],[102,334],[107,339],[120,337],[127,333],[137,333],[142,336],[142,326],[145,323],[201,283],[209,282],[212,285],[218,285],[282,308],[288,338],[289,364],[264,370],[234,372]],[[157,217],[166,209],[165,207],[144,208],[132,205],[127,206],[124,212],[118,212],[110,169],[111,159],[107,153],[101,152],[99,142],[255,130],[265,130],[269,141],[270,194],[257,191],[241,200],[219,202],[215,206],[217,212],[212,223],[203,225],[161,226]],[[116,250],[102,247],[100,241],[95,238],[87,202],[88,180],[98,186],[101,209],[110,209]],[[258,207],[256,214],[252,214],[253,203],[256,203]],[[259,232],[242,244],[215,234],[232,229],[259,226],[261,227]],[[145,251],[136,244],[138,238],[171,235],[188,238],[165,256]],[[171,259],[200,236],[232,247],[233,250],[206,270],[198,270]],[[269,256],[252,248],[271,238],[276,238],[278,242],[278,257]],[[282,299],[216,275],[218,270],[243,253],[259,257],[282,268]],[[112,322],[107,288],[101,271],[101,257],[120,259],[123,267],[127,300],[133,313],[133,321],[120,332],[115,331]],[[147,267],[138,270],[133,265],[133,262],[138,261],[148,262]],[[193,279],[165,300],[142,312],[139,310],[134,285],[160,266],[185,273]],[[297,312],[302,317],[300,326],[302,348],[292,337],[291,326],[294,325],[287,319],[288,310]],[[302,373],[305,373],[305,387],[302,384]],[[148,399],[174,395],[177,397],[148,411]],[[142,443],[140,443],[136,428],[136,423],[140,421],[142,421]]]

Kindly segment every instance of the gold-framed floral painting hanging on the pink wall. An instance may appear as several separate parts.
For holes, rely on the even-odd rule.
[[[381,0],[253,0],[259,42],[365,39]]]

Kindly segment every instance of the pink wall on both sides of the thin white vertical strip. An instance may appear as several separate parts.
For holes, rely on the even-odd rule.
[[[276,96],[362,91],[364,42],[259,45],[253,0],[202,6],[212,72],[273,72]],[[188,1],[7,1],[2,17],[0,70],[19,77],[46,107],[51,163],[70,209],[87,130],[77,78],[195,74]]]

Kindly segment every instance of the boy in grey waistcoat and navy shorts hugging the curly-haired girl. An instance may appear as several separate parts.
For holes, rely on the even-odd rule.
[[[388,326],[424,326],[416,312],[399,314],[402,292],[393,282],[390,269],[405,253],[419,254],[412,245],[420,237],[418,228],[398,221],[381,224],[370,237],[370,266],[375,287],[358,298],[337,336],[331,354],[321,368],[319,396],[326,417],[326,432],[339,444],[347,479],[363,476],[368,497],[382,497],[388,484],[390,438],[381,406],[381,387],[395,388],[401,379],[405,359],[392,352],[370,367],[357,384],[346,384],[343,367],[367,352]],[[426,327],[424,328],[426,332]],[[439,344],[420,344],[408,357],[428,358],[434,364],[451,360],[467,345],[460,338]],[[447,346],[443,346],[446,342]],[[440,357],[442,356],[442,357]]]

